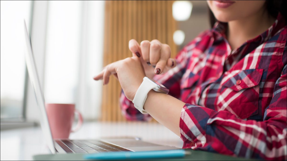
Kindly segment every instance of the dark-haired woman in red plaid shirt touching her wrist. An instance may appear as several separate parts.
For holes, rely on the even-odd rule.
[[[276,3],[208,1],[218,22],[176,59],[158,40],[130,40],[133,57],[94,79],[107,84],[115,75],[127,118],[152,116],[181,137],[183,148],[286,160],[286,2],[277,7],[284,13],[274,10]],[[143,110],[149,115],[131,102],[145,76],[170,90],[148,92]]]

